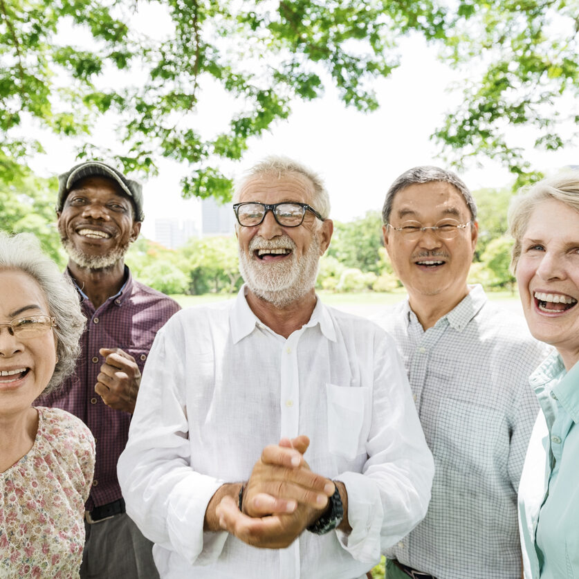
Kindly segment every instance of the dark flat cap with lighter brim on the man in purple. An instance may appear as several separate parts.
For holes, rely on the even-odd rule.
[[[108,177],[116,181],[120,188],[129,196],[135,208],[135,221],[143,221],[143,186],[133,179],[128,179],[120,171],[102,163],[102,161],[89,160],[80,165],[75,165],[72,169],[58,176],[58,196],[56,199],[56,210],[62,211],[66,196],[73,188],[73,185],[85,177]]]

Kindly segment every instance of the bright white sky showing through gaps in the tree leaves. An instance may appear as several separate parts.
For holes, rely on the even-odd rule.
[[[159,26],[158,14],[139,16],[139,26],[144,29]],[[403,39],[399,50],[401,66],[376,84],[378,111],[363,114],[347,109],[330,87],[322,99],[295,103],[288,120],[277,122],[267,134],[250,140],[241,163],[223,165],[222,170],[235,177],[268,154],[301,160],[324,178],[332,203],[331,217],[349,221],[367,210],[379,210],[389,184],[406,169],[415,165],[445,167],[440,146],[430,140],[430,134],[442,124],[445,111],[459,102],[459,93],[447,89],[453,81],[460,83],[461,78],[438,62],[434,49],[419,37]],[[200,128],[222,126],[229,119],[228,101],[211,88],[201,89],[205,89],[205,98],[197,115],[203,125]],[[110,132],[104,138],[110,141]],[[526,142],[533,140],[531,131]],[[61,145],[51,147],[52,153],[38,159],[33,168],[55,173],[71,167],[75,160],[69,147]],[[529,148],[525,155],[533,168],[547,173],[579,164],[576,150],[547,154]],[[71,157],[69,161],[67,157]],[[486,159],[481,163],[482,167],[473,165],[461,173],[471,190],[512,182],[510,174],[497,163]],[[159,176],[143,184],[146,218],[142,232],[149,239],[154,239],[155,219],[199,219],[199,201],[181,199],[178,182],[185,167],[163,160],[159,167]]]

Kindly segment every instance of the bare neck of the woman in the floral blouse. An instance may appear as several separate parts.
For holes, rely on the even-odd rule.
[[[28,407],[19,414],[0,414],[0,472],[8,470],[33,448],[38,430],[38,412]]]

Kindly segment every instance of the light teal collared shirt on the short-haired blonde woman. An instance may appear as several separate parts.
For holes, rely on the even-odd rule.
[[[579,364],[553,353],[529,378],[542,407],[519,486],[525,579],[579,578]]]

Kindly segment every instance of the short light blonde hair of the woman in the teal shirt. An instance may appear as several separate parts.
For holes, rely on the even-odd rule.
[[[508,232],[515,239],[511,250],[511,270],[517,270],[521,257],[521,241],[533,211],[543,201],[555,199],[579,212],[579,171],[569,171],[544,178],[531,187],[524,187],[511,199],[508,208]]]

